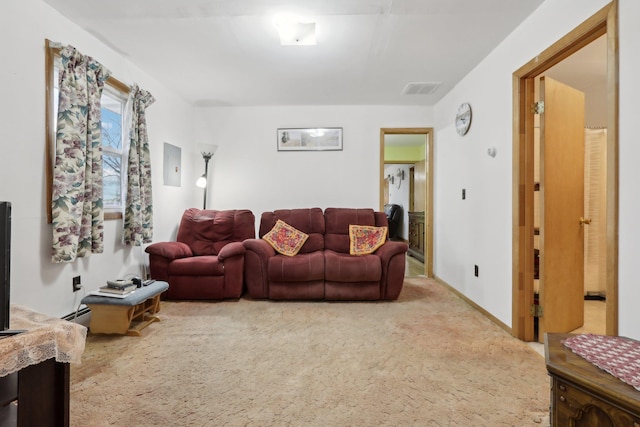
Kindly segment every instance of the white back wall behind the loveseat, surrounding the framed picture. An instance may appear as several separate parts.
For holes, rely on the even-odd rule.
[[[380,128],[430,127],[431,107],[214,107],[197,113],[197,139],[219,146],[209,173],[212,209],[262,212],[380,206]],[[277,151],[284,127],[342,127],[342,151]],[[209,201],[210,200],[210,201]]]

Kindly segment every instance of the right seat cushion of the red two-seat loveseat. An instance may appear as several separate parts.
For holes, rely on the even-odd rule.
[[[329,282],[379,282],[382,263],[376,255],[352,256],[324,251],[325,280]]]

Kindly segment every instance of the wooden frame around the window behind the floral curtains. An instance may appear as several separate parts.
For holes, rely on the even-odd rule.
[[[55,117],[53,117],[53,112],[55,111],[55,102],[54,99],[54,91],[55,91],[55,81],[54,81],[54,67],[55,67],[55,59],[60,56],[60,51],[62,50],[56,43],[51,42],[48,39],[45,39],[45,141],[46,141],[46,164],[45,164],[45,174],[46,174],[46,191],[45,191],[45,207],[47,212],[47,224],[52,223],[52,210],[51,210],[51,197],[53,195],[53,165],[55,162],[55,141],[56,141],[56,123]],[[129,97],[129,93],[131,89],[128,85],[116,79],[115,77],[110,76],[106,80],[106,85],[108,85],[111,89],[113,89],[117,94],[119,94],[124,100],[124,105],[126,105],[126,99]],[[113,96],[113,95],[112,95]],[[124,111],[123,111],[124,113]],[[122,129],[123,134],[126,130]],[[124,140],[124,137],[123,137]],[[125,182],[125,170],[126,170],[126,146],[123,143],[122,147],[122,169],[120,171],[121,174],[121,182]],[[124,208],[124,191],[123,190],[123,208]],[[113,220],[113,219],[122,219],[122,211],[115,209],[104,209],[104,219],[105,220]]]

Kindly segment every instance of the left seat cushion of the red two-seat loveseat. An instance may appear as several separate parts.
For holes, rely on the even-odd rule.
[[[269,258],[268,278],[272,282],[310,282],[324,279],[322,251],[294,257],[275,255]]]

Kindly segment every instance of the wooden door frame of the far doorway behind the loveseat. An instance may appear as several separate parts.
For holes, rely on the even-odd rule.
[[[425,224],[424,244],[426,255],[424,259],[424,274],[433,277],[433,128],[381,128],[380,129],[380,210],[384,209],[384,136],[385,135],[427,135],[425,144],[426,160],[426,193],[425,194]],[[394,163],[415,163],[414,160]]]

